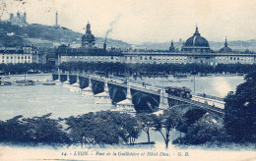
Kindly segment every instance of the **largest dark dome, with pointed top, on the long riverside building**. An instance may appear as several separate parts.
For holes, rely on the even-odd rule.
[[[210,45],[208,40],[200,35],[198,27],[196,27],[194,35],[186,40],[181,48],[181,51],[206,53],[210,52]]]

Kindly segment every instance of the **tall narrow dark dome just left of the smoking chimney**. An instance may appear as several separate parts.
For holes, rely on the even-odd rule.
[[[87,24],[87,31],[82,36],[82,48],[92,48],[96,44],[95,35],[91,31],[91,25]]]

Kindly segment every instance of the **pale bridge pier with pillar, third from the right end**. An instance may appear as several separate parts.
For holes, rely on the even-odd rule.
[[[111,104],[106,78],[104,80],[104,91],[96,94],[94,97],[96,100],[96,104]]]

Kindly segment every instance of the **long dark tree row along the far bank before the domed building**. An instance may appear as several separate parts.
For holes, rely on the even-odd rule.
[[[212,73],[239,73],[247,74],[256,69],[256,65],[242,64],[219,64],[215,68],[210,65],[201,64],[124,64],[124,63],[96,63],[96,62],[64,62],[60,66],[63,71],[85,71],[88,73],[101,72],[105,75],[124,75],[126,73],[136,76],[158,75],[158,74],[201,74]]]

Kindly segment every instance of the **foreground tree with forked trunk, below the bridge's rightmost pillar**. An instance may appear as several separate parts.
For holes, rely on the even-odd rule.
[[[160,114],[154,121],[155,131],[162,135],[166,149],[168,148],[170,131],[185,123],[181,113],[175,109],[164,110],[163,114]],[[164,129],[165,134],[163,134],[162,129]]]

